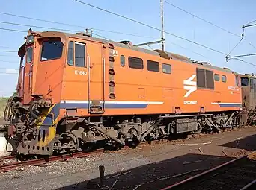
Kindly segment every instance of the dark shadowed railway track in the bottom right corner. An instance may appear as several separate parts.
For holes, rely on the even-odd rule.
[[[256,189],[256,151],[161,190]]]

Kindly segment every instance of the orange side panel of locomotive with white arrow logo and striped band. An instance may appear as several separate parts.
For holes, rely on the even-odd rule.
[[[88,110],[91,104],[105,108],[96,115],[240,110],[241,89],[237,86],[236,75],[228,69],[213,69],[183,60],[167,60],[156,54],[117,45],[112,49],[100,42],[81,42],[86,43],[89,61],[88,57],[86,60],[90,62],[90,67],[80,69],[82,75],[75,75],[76,67],[66,67],[61,108],[77,108],[78,115],[92,114]],[[130,68],[129,57],[142,59],[143,69]],[[159,72],[148,71],[147,60],[159,62]],[[171,65],[171,74],[162,72],[163,63]],[[214,81],[213,89],[198,88],[197,68],[219,74],[220,80]],[[222,82],[222,75],[226,76],[225,82]]]

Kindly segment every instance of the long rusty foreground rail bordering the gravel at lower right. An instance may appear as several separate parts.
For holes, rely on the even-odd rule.
[[[238,157],[236,159],[232,159],[231,161],[225,162],[222,165],[218,165],[215,168],[211,168],[210,170],[204,171],[204,172],[202,172],[200,174],[196,174],[195,176],[189,177],[189,178],[187,178],[185,180],[182,180],[182,181],[180,181],[178,183],[174,183],[173,185],[167,186],[167,187],[165,187],[165,188],[163,188],[161,190],[176,189],[176,188],[179,189],[180,186],[183,186],[186,183],[191,183],[193,180],[202,179],[200,177],[204,177],[204,175],[206,175],[206,174],[213,173],[213,171],[218,171],[220,168],[224,168],[227,165],[231,165],[234,162],[237,162],[237,161],[242,160],[242,159],[246,159],[247,157],[250,157],[250,156],[255,155],[255,154],[256,154],[256,151],[253,151],[253,152],[251,152],[251,153],[249,153],[249,154],[247,154],[245,156],[240,156],[240,157]],[[255,180],[252,181],[252,184],[254,184],[254,183],[256,183]],[[247,186],[252,186],[252,184],[249,183]]]

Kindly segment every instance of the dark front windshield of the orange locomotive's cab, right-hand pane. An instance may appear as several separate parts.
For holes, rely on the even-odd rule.
[[[62,55],[63,44],[59,40],[49,40],[42,42],[41,61],[55,60]]]

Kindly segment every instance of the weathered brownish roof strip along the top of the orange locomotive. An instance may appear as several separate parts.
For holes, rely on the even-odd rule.
[[[180,54],[174,54],[171,52],[167,52],[167,51],[162,51],[159,49],[156,50],[148,50],[145,48],[139,48],[133,45],[126,45],[124,43],[121,42],[115,42],[112,40],[107,40],[107,39],[102,39],[102,38],[97,38],[97,37],[88,37],[82,34],[70,34],[70,33],[65,33],[65,32],[60,32],[60,31],[43,31],[40,32],[40,34],[42,35],[42,37],[52,37],[52,36],[56,36],[56,37],[74,37],[74,38],[79,38],[79,39],[87,39],[87,40],[93,40],[93,41],[97,41],[97,42],[103,42],[103,43],[112,43],[113,45],[116,45],[118,47],[121,48],[128,48],[128,49],[132,49],[135,51],[141,51],[144,52],[146,54],[152,54],[152,55],[156,55],[156,56],[160,56],[163,58],[167,58],[167,59],[172,59],[172,60],[179,60],[179,61],[183,61],[186,63],[191,63],[191,64],[195,64],[197,66],[202,66],[205,68],[209,68],[209,69],[216,69],[222,72],[233,72],[237,75],[239,75],[237,72],[231,71],[231,69],[228,68],[221,68],[218,66],[213,66],[210,63],[207,62],[197,62],[197,61],[192,61],[190,60],[188,57],[185,57],[183,55]]]

